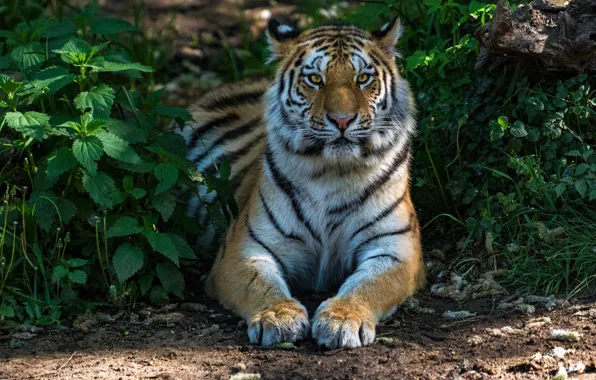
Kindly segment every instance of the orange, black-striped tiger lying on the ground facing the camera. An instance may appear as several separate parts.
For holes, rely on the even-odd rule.
[[[265,34],[275,77],[208,92],[180,132],[199,171],[226,157],[235,184],[238,213],[205,292],[246,321],[254,345],[369,345],[425,281],[399,18],[374,32],[271,19]],[[212,194],[198,191],[188,213],[205,221]],[[334,296],[311,319],[296,291]]]

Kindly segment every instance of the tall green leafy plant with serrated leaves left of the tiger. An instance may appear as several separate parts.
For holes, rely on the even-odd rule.
[[[202,177],[173,128],[191,116],[130,89],[154,71],[130,60],[131,33],[94,8],[0,31],[3,317],[53,323],[98,291],[183,296],[199,231],[181,198]]]

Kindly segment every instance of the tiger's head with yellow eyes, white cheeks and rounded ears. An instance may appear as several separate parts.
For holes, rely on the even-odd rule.
[[[300,32],[270,20],[279,68],[267,94],[268,128],[285,149],[358,160],[407,139],[414,105],[395,63],[400,34],[397,18],[372,33],[349,25]]]

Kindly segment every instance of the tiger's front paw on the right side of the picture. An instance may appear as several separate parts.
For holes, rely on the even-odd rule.
[[[366,346],[375,340],[372,313],[339,299],[323,302],[313,318],[312,336],[327,348]]]

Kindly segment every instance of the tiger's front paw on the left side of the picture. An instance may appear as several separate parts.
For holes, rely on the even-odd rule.
[[[294,300],[276,303],[252,317],[248,338],[252,344],[272,346],[308,336],[310,323],[304,306]]]

